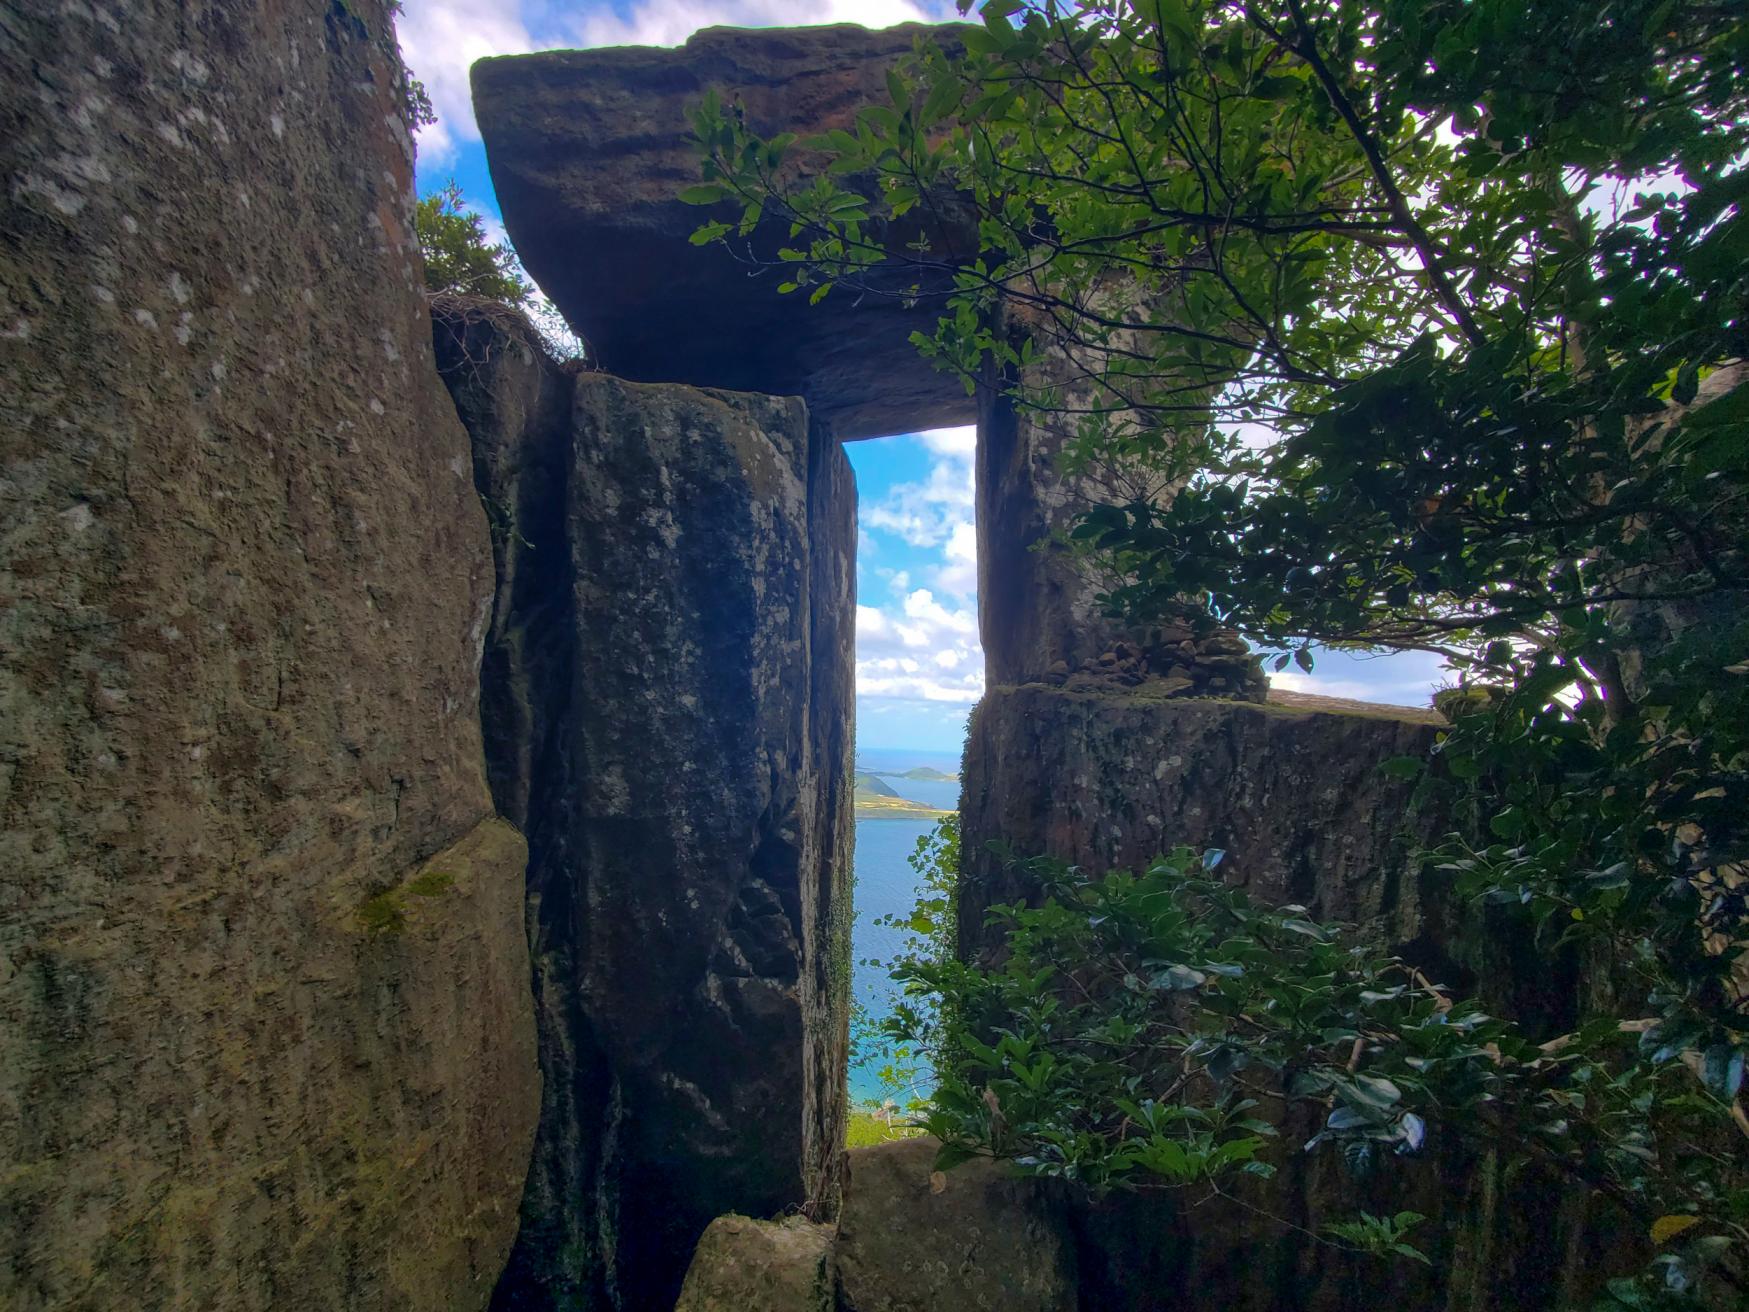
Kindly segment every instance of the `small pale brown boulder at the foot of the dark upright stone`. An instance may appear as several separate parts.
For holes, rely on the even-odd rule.
[[[673,1312],[833,1312],[833,1228],[719,1216],[698,1240]]]

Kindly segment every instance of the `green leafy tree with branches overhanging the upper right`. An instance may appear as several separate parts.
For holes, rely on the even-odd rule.
[[[735,208],[698,240],[757,259],[775,224],[778,290],[939,306],[918,348],[1070,423],[1070,462],[1156,464],[1175,495],[1076,530],[1123,581],[1116,611],[1209,616],[1305,668],[1315,644],[1432,651],[1488,689],[1429,778],[1476,826],[1431,859],[1546,945],[1581,943],[1607,987],[1558,1069],[1522,1032],[1490,1037],[1508,1060],[1480,1121],[1481,1102],[1410,1106],[1425,1085],[1378,1078],[1425,1123],[1557,1146],[1648,1218],[1658,1293],[1621,1302],[1740,1293],[1749,24],[1670,0],[990,0],[981,17],[810,142],[761,140],[707,98],[687,198]],[[967,213],[972,261],[936,238]],[[892,231],[916,238],[892,250]],[[1016,922],[1018,945],[1035,929]],[[1198,1002],[1226,992],[1193,969]],[[915,978],[1011,1032],[1048,1004],[1048,980],[992,1002],[988,974],[957,971]],[[1390,1069],[1401,1027],[1348,1027],[1354,1071]],[[955,1041],[967,1079],[1016,1072],[974,1041]],[[1105,1095],[1063,1097],[1086,1104],[1074,1134],[1111,1148]],[[1340,1102],[1326,1142],[1385,1127]],[[978,1151],[1049,1156],[969,1125]]]

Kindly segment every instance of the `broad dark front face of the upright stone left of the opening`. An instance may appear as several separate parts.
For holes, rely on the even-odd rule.
[[[563,866],[612,1072],[619,1293],[661,1307],[717,1214],[803,1198],[808,416],[582,376]]]

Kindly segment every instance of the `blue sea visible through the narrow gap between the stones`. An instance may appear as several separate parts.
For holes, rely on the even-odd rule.
[[[881,780],[901,798],[920,801],[925,806],[955,810],[960,805],[957,780],[948,784],[895,777],[899,771],[918,766],[957,775],[960,761],[948,752],[857,749],[857,770],[892,771],[883,773]],[[918,841],[934,827],[934,820],[857,820],[857,915],[850,931],[850,953],[855,962],[852,992],[873,1023],[892,1015],[899,994],[899,987],[887,978],[887,969],[874,962],[890,962],[904,941],[901,931],[885,929],[874,922],[887,915],[909,915],[916,904],[916,871],[911,869],[909,859],[916,852]],[[869,1104],[888,1097],[902,1102],[904,1093],[887,1088],[880,1079],[880,1071],[890,1058],[873,1048],[874,1044],[864,1043],[861,1060],[850,1064],[850,1102]]]

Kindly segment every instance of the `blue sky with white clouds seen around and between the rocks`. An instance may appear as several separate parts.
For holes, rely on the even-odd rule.
[[[406,0],[401,49],[425,82],[437,122],[418,136],[418,184],[449,180],[504,241],[467,70],[488,54],[589,45],[679,45],[698,28],[862,23],[881,28],[953,17],[951,0]],[[857,474],[857,745],[958,752],[983,693],[972,430],[944,429],[847,444]],[[1427,705],[1443,682],[1418,653],[1320,653],[1289,687],[1362,701]]]

